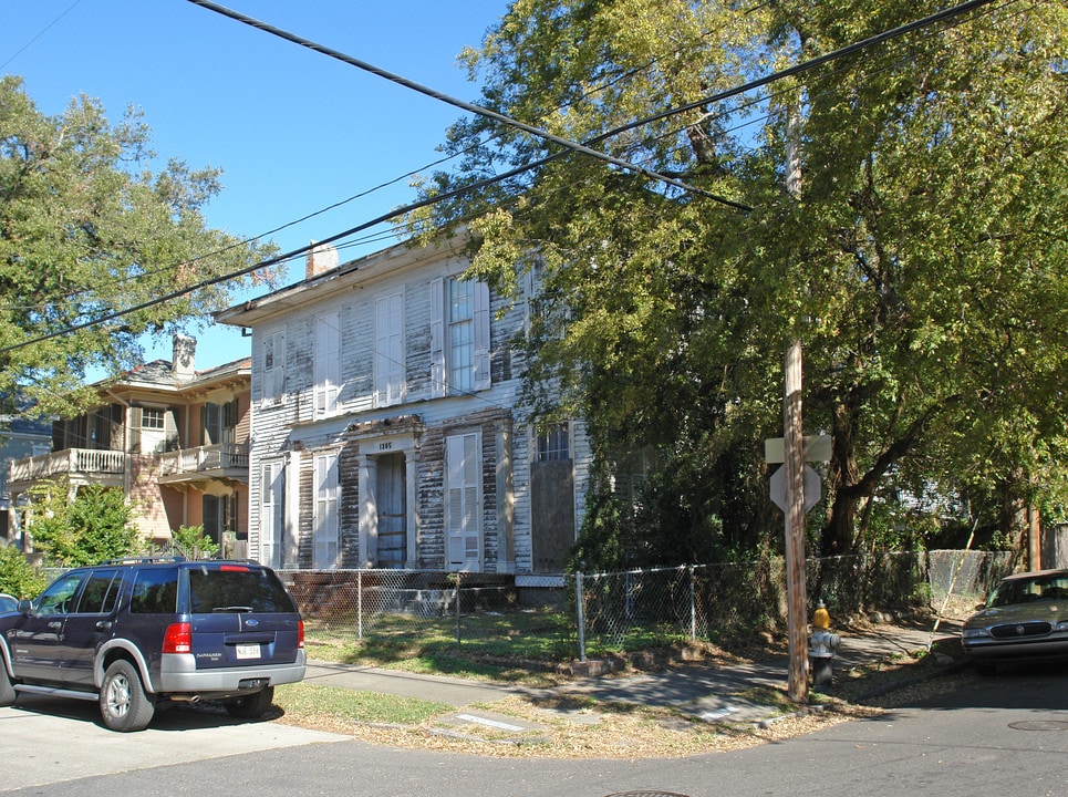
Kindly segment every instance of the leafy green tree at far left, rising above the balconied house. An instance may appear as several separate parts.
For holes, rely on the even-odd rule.
[[[249,268],[273,250],[205,224],[219,170],[172,159],[154,173],[149,144],[132,111],[112,124],[81,96],[48,116],[20,79],[0,79],[0,396],[22,395],[43,412],[92,401],[79,390],[86,369],[137,364],[144,333],[203,323],[229,303],[229,288],[252,277],[68,330]]]

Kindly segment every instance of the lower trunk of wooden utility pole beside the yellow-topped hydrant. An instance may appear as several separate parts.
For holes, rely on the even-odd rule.
[[[782,437],[786,468],[787,641],[789,694],[808,702],[808,599],[805,584],[805,452],[801,431],[801,342],[795,340],[784,362]]]

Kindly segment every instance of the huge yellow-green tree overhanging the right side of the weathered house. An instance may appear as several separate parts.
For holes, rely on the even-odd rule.
[[[535,408],[584,417],[605,467],[653,447],[673,529],[729,549],[771,528],[761,442],[780,434],[795,338],[807,431],[833,437],[810,516],[823,551],[856,548],[880,491],[1007,507],[1062,491],[1068,9],[989,4],[706,102],[922,13],[518,0],[465,54],[484,105],[699,189],[476,117],[425,194],[533,168],[406,219],[466,222],[499,290],[536,276]]]

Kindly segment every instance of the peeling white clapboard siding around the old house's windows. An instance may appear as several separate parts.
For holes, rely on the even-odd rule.
[[[252,309],[235,308],[229,323],[252,329],[252,449],[250,463],[250,552],[261,549],[259,507],[262,464],[286,462],[286,524],[298,536],[302,568],[314,563],[314,458],[339,455],[340,567],[374,565],[367,536],[374,524],[374,462],[379,454],[402,454],[407,500],[407,565],[446,569],[446,439],[477,432],[479,456],[479,567],[486,572],[531,572],[530,463],[536,437],[519,406],[525,368],[522,335],[527,308],[522,300],[490,294],[489,364],[491,386],[474,394],[434,397],[432,390],[433,286],[463,272],[467,261],[456,253],[395,247],[346,263],[261,300]],[[376,300],[403,297],[402,401],[379,406],[375,396]],[[439,293],[437,294],[440,296]],[[278,301],[274,301],[277,298]],[[336,411],[314,416],[317,318],[338,313],[340,341]],[[284,334],[284,386],[265,397],[262,358],[257,343],[267,334]],[[574,429],[574,495],[581,518],[588,457],[581,428]],[[372,484],[363,484],[371,474]],[[295,482],[293,482],[295,479]],[[276,537],[278,532],[276,532]],[[411,541],[414,539],[414,544]],[[278,544],[276,544],[276,550]],[[364,557],[371,557],[371,561]]]

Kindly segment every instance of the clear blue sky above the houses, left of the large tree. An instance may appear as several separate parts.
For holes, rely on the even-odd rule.
[[[462,100],[477,102],[456,56],[480,44],[507,0],[229,0],[249,17]],[[186,0],[0,0],[0,74],[21,75],[38,107],[101,101],[113,121],[141,108],[162,161],[224,169],[208,222],[260,235],[425,168],[460,112]],[[272,236],[282,251],[415,198],[408,180]],[[394,242],[346,249],[342,259]],[[303,261],[286,283],[303,277]],[[248,296],[236,297],[243,300]],[[238,330],[198,333],[197,368],[249,353]],[[170,341],[146,341],[146,359]]]

